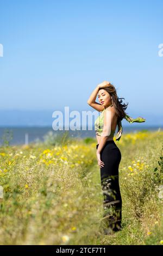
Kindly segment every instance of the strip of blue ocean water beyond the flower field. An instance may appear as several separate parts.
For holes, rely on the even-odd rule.
[[[94,129],[94,128],[93,128]],[[158,129],[163,129],[163,126],[145,126],[141,127],[141,125],[134,125],[134,126],[123,126],[123,132],[137,132],[141,130],[148,130],[148,131],[156,131]],[[30,142],[36,141],[44,141],[45,135],[48,132],[52,132],[53,134],[63,134],[65,131],[54,131],[52,127],[0,127],[0,145],[2,145],[4,141],[4,136],[9,141],[10,145],[16,144],[28,144]],[[69,133],[70,137],[79,137],[79,138],[86,138],[92,137],[96,138],[95,130],[78,130],[78,131],[66,131]],[[115,136],[117,133],[117,129],[115,132]]]

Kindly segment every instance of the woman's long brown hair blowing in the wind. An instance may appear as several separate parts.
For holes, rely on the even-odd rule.
[[[124,98],[123,97],[120,98],[117,96],[117,92],[116,92],[116,89],[113,86],[113,84],[110,83],[108,87],[99,88],[99,90],[101,90],[101,89],[106,90],[106,92],[108,92],[110,94],[110,96],[112,97],[112,100],[111,100],[112,105],[115,107],[116,114],[118,115],[118,120],[122,120],[126,115],[125,110],[128,106],[128,103],[122,104],[122,99],[124,99]]]

